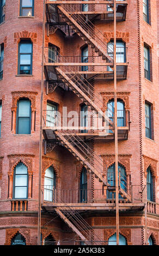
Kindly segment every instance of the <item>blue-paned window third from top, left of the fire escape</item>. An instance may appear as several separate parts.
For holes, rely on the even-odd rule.
[[[27,99],[22,99],[17,102],[17,134],[31,133],[31,102]]]

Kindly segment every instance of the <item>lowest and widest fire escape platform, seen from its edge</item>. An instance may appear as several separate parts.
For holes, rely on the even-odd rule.
[[[59,210],[70,210],[70,206],[77,211],[83,210],[103,210],[110,211],[115,210],[115,203],[44,203],[42,204],[42,210],[47,212],[54,212],[54,209],[58,208]],[[119,203],[119,210],[143,210],[144,203]]]

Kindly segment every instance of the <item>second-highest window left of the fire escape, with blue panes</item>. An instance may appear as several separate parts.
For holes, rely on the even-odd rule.
[[[31,75],[32,74],[32,42],[24,40],[19,44],[19,65],[18,74]]]

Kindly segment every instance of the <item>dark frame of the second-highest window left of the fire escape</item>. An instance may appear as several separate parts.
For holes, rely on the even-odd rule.
[[[31,44],[32,45],[32,52],[31,53],[20,53],[20,45],[24,43],[24,44]],[[20,71],[21,71],[21,64],[20,64],[20,56],[21,55],[29,55],[30,54],[30,74],[21,74]],[[29,66],[29,65],[28,65]],[[17,74],[18,75],[24,75],[24,76],[27,76],[27,75],[32,75],[33,73],[33,43],[31,40],[21,40],[19,42],[19,46],[18,46],[18,69],[17,69]]]

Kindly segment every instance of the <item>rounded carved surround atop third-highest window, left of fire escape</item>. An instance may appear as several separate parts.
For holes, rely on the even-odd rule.
[[[12,101],[12,108],[17,108],[17,101],[22,98],[22,97],[27,97],[32,105],[31,108],[34,109],[35,111],[35,95],[37,95],[38,93],[36,92],[12,92],[11,93],[13,95],[13,101]]]

